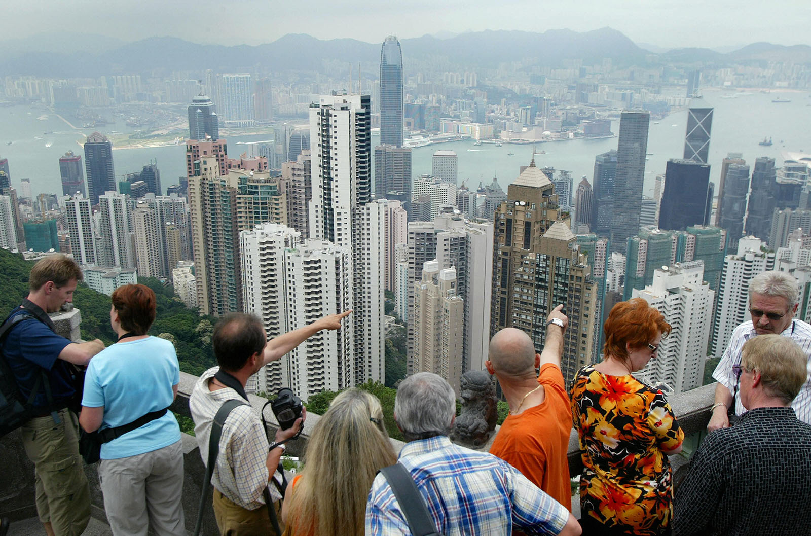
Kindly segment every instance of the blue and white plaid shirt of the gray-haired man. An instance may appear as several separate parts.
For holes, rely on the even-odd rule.
[[[569,510],[506,461],[451,443],[440,435],[400,452],[437,530],[445,536],[560,534]],[[411,534],[391,486],[375,477],[366,507],[366,534]]]

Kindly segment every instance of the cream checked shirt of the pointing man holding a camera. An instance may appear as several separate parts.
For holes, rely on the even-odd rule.
[[[214,415],[225,401],[243,400],[232,388],[208,390],[220,367],[213,367],[200,376],[191,392],[189,409],[195,422],[195,439],[203,463],[208,462],[208,438]],[[222,495],[247,510],[264,506],[262,492],[270,490],[272,500],[281,499],[275,486],[268,486],[268,436],[260,416],[251,405],[238,405],[231,410],[220,437],[220,454],[211,483]]]

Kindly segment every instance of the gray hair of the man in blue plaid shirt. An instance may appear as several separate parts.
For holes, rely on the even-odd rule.
[[[394,419],[407,441],[448,435],[456,416],[456,396],[447,381],[431,372],[402,380],[394,399]]]

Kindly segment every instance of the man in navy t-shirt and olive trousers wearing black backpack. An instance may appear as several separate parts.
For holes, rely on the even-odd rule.
[[[73,343],[54,332],[48,316],[67,302],[82,270],[65,255],[48,255],[28,276],[28,298],[6,318],[14,322],[2,345],[33,417],[20,429],[25,453],[34,463],[36,512],[48,536],[79,536],[90,520],[90,488],[79,456],[79,422],[74,365],[87,365],[104,343]],[[5,323],[4,323],[5,324]],[[77,397],[78,395],[78,397]]]

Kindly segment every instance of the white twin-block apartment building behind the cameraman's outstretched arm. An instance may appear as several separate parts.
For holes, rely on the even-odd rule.
[[[268,337],[352,307],[351,253],[323,240],[301,241],[294,229],[257,225],[240,234],[245,310],[262,319]],[[294,389],[307,399],[355,384],[352,324],[309,337],[249,380],[252,392]]]

